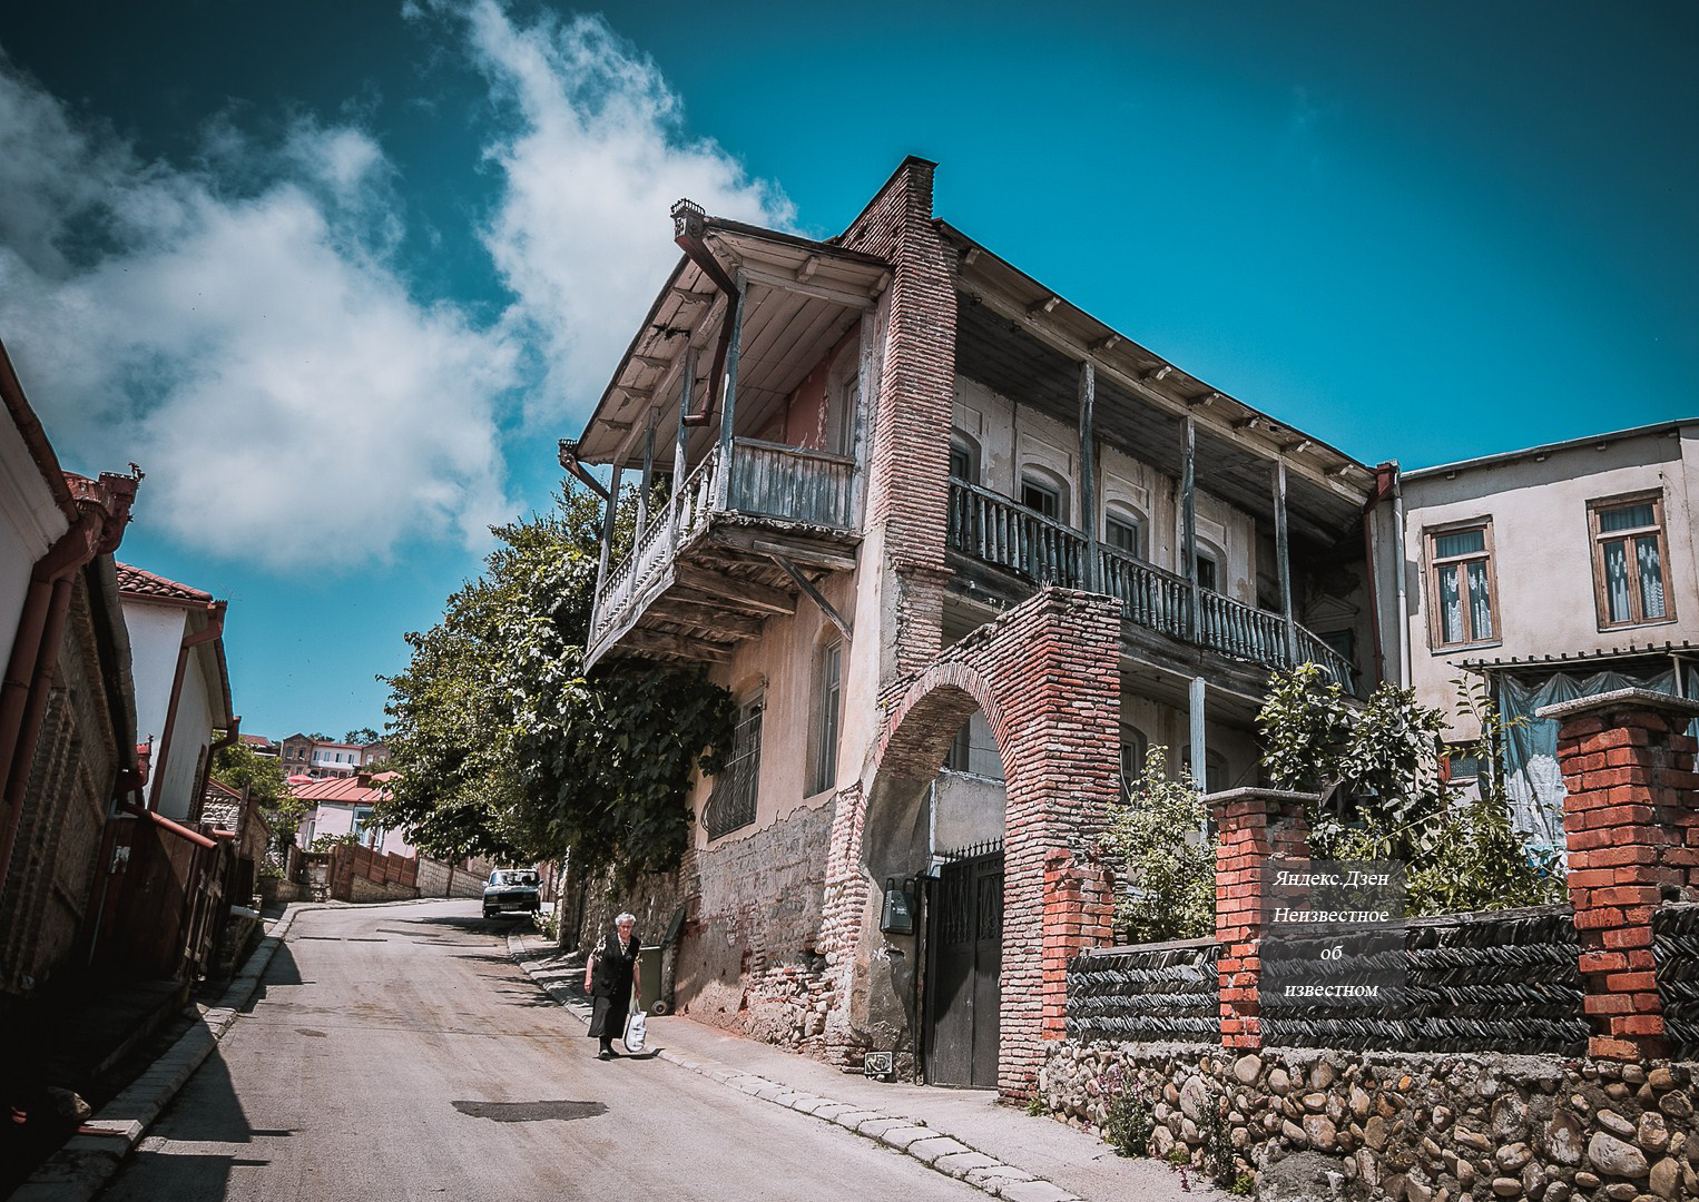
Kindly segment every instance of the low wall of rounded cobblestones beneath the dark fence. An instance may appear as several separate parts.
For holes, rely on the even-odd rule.
[[[1118,1093],[1143,1098],[1152,1156],[1201,1165],[1218,1132],[1261,1177],[1312,1153],[1288,1165],[1308,1197],[1646,1202],[1699,1197],[1692,1068],[1070,1039],[1040,1083],[1052,1114],[1099,1134]]]

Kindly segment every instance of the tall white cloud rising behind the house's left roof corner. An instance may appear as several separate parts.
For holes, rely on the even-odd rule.
[[[528,414],[581,421],[678,260],[675,200],[780,227],[795,209],[717,143],[688,138],[659,68],[600,17],[515,24],[496,0],[426,7],[464,20],[515,126],[488,149],[503,187],[484,244],[515,294],[510,323],[547,362]]]

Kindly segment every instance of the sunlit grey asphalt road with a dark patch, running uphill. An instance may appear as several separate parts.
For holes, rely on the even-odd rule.
[[[477,902],[302,913],[102,1199],[985,1199],[833,1124],[595,1051]]]

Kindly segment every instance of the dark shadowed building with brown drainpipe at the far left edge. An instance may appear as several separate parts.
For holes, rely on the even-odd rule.
[[[0,1027],[29,1039],[29,1003],[63,1000],[88,964],[104,840],[134,781],[112,552],[138,479],[63,472],[3,348],[0,397]]]

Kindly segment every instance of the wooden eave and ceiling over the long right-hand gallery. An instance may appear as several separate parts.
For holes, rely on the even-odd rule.
[[[1183,431],[1193,418],[1198,487],[1273,521],[1269,470],[1286,462],[1293,533],[1332,547],[1358,538],[1354,523],[1374,472],[1103,324],[945,221],[960,253],[957,367],[980,384],[1079,423],[1079,363],[1098,370],[1098,438],[1167,475],[1181,474]]]

